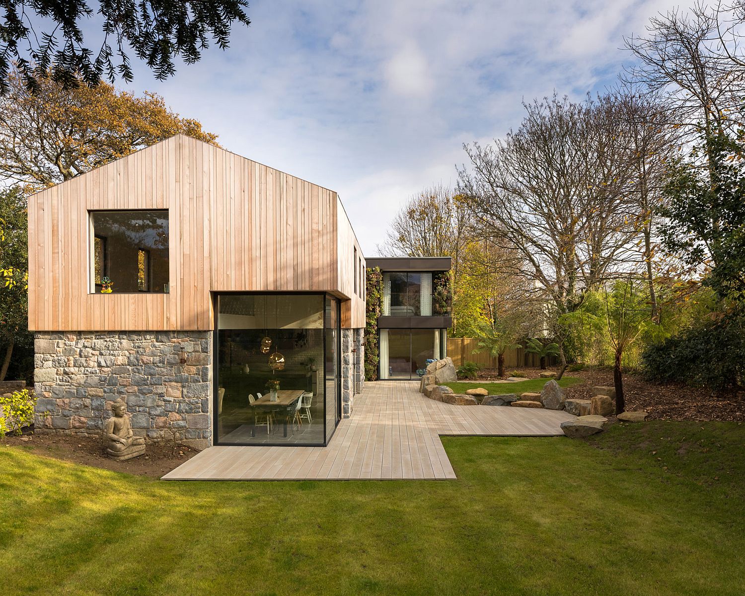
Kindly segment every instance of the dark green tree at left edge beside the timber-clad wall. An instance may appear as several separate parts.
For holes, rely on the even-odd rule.
[[[28,332],[28,220],[18,186],[0,191],[0,381],[13,349],[31,342]]]

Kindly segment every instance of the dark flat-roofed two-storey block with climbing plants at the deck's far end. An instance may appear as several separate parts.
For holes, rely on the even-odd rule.
[[[450,257],[367,259],[382,273],[378,378],[418,379],[429,359],[445,358],[452,325]]]

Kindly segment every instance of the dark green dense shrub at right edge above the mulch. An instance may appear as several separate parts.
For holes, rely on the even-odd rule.
[[[745,380],[745,318],[735,314],[652,345],[641,356],[653,381],[683,381],[723,391]]]

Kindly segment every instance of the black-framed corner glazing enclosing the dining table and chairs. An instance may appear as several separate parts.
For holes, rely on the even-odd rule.
[[[324,445],[338,422],[339,302],[218,295],[220,445]]]

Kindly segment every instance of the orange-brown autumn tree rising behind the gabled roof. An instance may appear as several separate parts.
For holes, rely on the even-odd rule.
[[[0,175],[31,190],[52,186],[177,133],[215,142],[191,118],[181,118],[163,98],[136,97],[107,83],[64,89],[40,77],[29,92],[12,72],[0,98]]]

